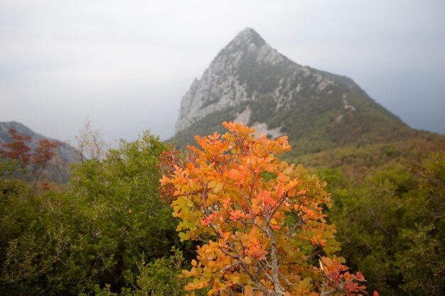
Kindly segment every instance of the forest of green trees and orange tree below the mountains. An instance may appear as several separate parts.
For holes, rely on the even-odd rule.
[[[444,153],[354,178],[224,126],[188,150],[145,132],[63,185],[41,177],[58,144],[16,134],[0,295],[445,295]]]

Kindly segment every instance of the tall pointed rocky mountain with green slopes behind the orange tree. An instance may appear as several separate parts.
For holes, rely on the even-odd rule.
[[[177,146],[241,121],[264,135],[288,135],[294,155],[389,143],[434,133],[409,128],[348,77],[301,66],[252,28],[218,53],[181,102]]]

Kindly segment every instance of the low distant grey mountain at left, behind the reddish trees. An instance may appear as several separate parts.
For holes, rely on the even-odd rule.
[[[1,144],[11,143],[11,141],[13,141],[9,133],[11,128],[14,128],[21,136],[31,136],[32,140],[30,143],[28,143],[31,151],[36,148],[38,141],[43,138],[47,138],[50,141],[58,141],[53,138],[42,136],[41,134],[32,131],[31,128],[28,128],[27,126],[24,126],[16,121],[0,122],[0,148]],[[80,161],[80,152],[67,143],[63,143],[62,141],[59,142],[60,146],[58,146],[58,151],[55,157],[57,160],[55,161],[55,168],[49,171],[47,170],[45,175],[47,175],[48,178],[54,182],[67,182],[69,176],[69,166],[71,163],[77,163]]]

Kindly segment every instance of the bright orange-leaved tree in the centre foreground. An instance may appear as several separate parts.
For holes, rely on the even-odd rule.
[[[339,250],[326,186],[302,165],[279,161],[286,136],[270,140],[254,128],[223,125],[227,133],[195,139],[193,161],[163,175],[173,192],[173,216],[182,241],[200,241],[186,290],[208,295],[366,294],[360,273],[333,255]],[[170,161],[172,158],[166,158]],[[377,292],[375,292],[377,295]]]

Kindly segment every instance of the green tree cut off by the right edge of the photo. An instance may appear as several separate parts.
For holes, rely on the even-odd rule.
[[[404,243],[396,253],[400,287],[409,295],[445,293],[445,153],[424,155],[412,165],[417,186],[404,196]]]

